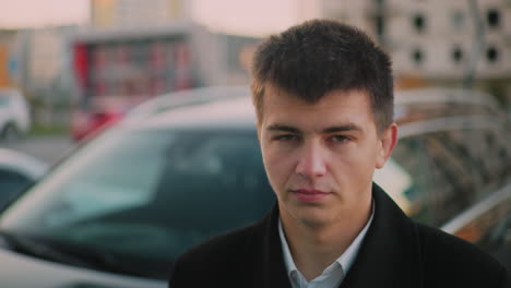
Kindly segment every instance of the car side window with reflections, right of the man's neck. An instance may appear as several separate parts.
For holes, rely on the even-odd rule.
[[[440,227],[509,178],[508,146],[507,135],[491,129],[467,128],[404,137],[391,159],[393,166],[400,167],[401,178],[406,175],[409,180],[401,188],[383,188],[395,190],[389,194],[399,194],[394,200],[409,216]],[[396,172],[389,170],[384,167],[382,172],[395,179]]]

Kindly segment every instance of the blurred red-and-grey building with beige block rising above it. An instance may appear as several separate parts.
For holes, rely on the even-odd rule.
[[[212,33],[192,22],[191,5],[190,0],[91,0],[91,25],[72,40],[83,106],[104,96],[138,103],[177,89],[248,84],[259,38]]]

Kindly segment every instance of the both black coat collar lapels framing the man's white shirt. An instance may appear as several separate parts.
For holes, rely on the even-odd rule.
[[[421,287],[421,261],[413,221],[379,188],[372,187],[375,216],[341,287]],[[259,223],[253,239],[261,252],[254,279],[259,287],[289,287],[278,238],[278,207]],[[257,276],[255,276],[257,275]]]

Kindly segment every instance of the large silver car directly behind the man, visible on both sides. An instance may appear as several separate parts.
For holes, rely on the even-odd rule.
[[[189,247],[261,218],[275,197],[246,93],[148,103],[161,109],[127,117],[61,161],[0,216],[0,262],[10,263],[0,285],[167,287]],[[436,227],[511,180],[504,120],[457,94],[397,95],[400,143],[375,175],[411,217]]]

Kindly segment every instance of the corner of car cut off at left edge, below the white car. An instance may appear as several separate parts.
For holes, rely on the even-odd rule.
[[[48,165],[32,156],[0,148],[0,207],[33,184],[48,170]]]

